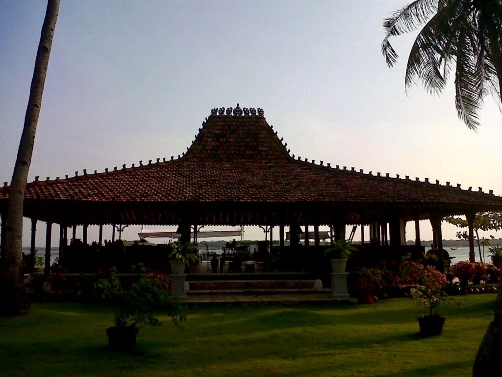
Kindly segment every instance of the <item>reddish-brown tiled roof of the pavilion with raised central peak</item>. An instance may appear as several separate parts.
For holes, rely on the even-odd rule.
[[[0,189],[0,200],[8,187]],[[184,156],[28,183],[26,199],[92,202],[436,203],[502,207],[502,198],[375,176],[289,155],[262,116],[211,115]]]

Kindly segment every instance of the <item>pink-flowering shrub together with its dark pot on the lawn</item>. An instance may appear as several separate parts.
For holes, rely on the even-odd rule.
[[[409,260],[404,261],[401,271],[405,282],[415,284],[411,289],[412,297],[420,307],[429,309],[427,315],[417,318],[420,335],[441,335],[446,318],[440,316],[437,310],[446,301],[446,275],[433,266]]]

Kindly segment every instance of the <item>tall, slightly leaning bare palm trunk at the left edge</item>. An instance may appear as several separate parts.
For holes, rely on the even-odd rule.
[[[0,315],[16,315],[24,309],[25,294],[21,274],[23,202],[58,12],[59,0],[49,0],[35,60],[23,133],[9,192],[5,258],[3,258],[4,260],[1,261],[0,265],[3,280],[0,281],[0,287],[2,287],[0,289],[0,302],[2,303]]]

